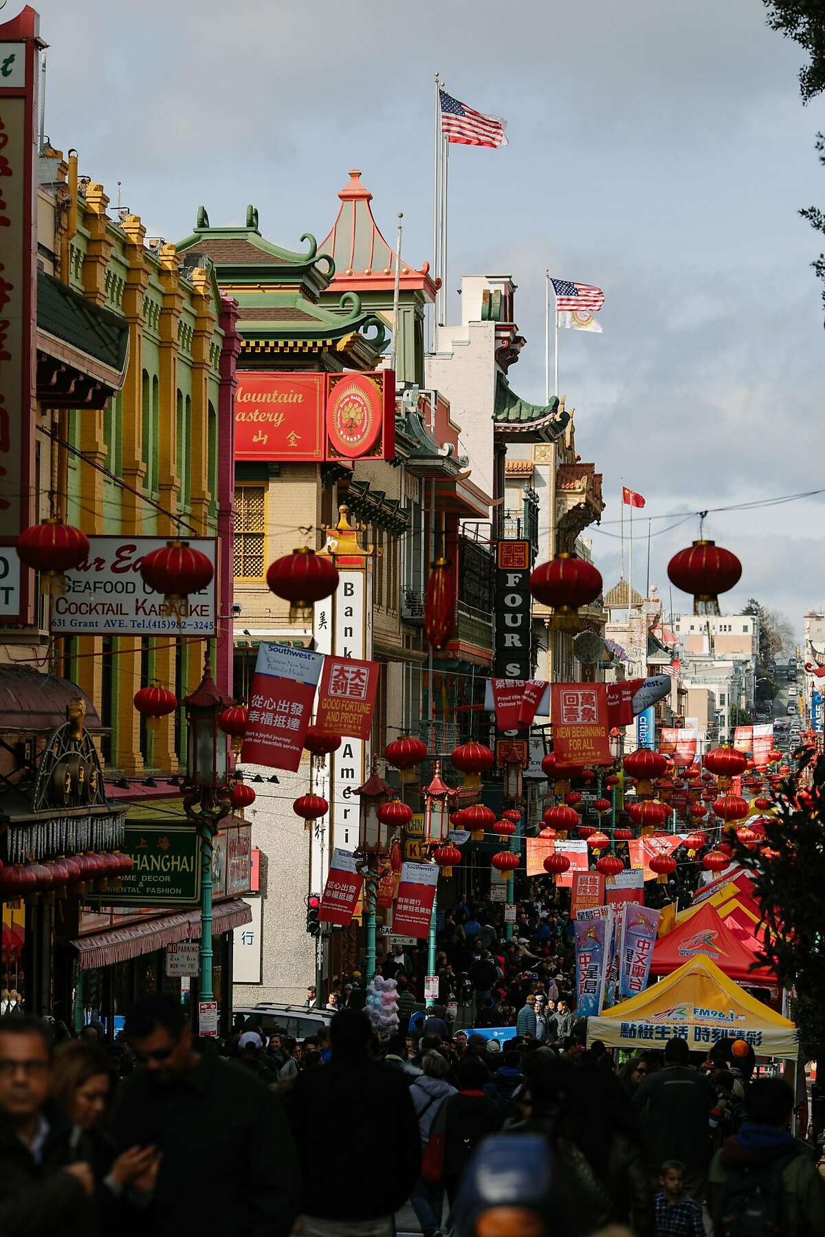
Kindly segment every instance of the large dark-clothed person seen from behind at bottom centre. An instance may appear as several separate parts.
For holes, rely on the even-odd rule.
[[[395,1213],[418,1179],[421,1137],[408,1080],[370,1059],[371,1037],[365,1013],[343,1009],[330,1025],[329,1065],[302,1074],[289,1095],[303,1237],[392,1237]],[[370,1168],[380,1164],[391,1171]]]

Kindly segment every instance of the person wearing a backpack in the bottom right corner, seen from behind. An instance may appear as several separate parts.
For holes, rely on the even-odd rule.
[[[707,1175],[716,1237],[825,1237],[825,1181],[788,1128],[792,1089],[782,1079],[758,1079],[745,1106],[747,1119]]]

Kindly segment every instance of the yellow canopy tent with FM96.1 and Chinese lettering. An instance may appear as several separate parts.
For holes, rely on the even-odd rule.
[[[745,1039],[757,1056],[797,1059],[797,1028],[729,980],[704,954],[630,1001],[588,1018],[588,1044],[613,1048],[664,1048],[686,1040],[693,1051],[717,1039]]]

